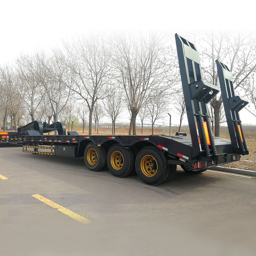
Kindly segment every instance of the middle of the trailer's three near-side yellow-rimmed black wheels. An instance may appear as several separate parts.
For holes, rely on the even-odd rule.
[[[122,145],[111,146],[107,154],[108,170],[116,177],[123,178],[132,173],[134,168],[134,156],[131,149],[125,149]]]

